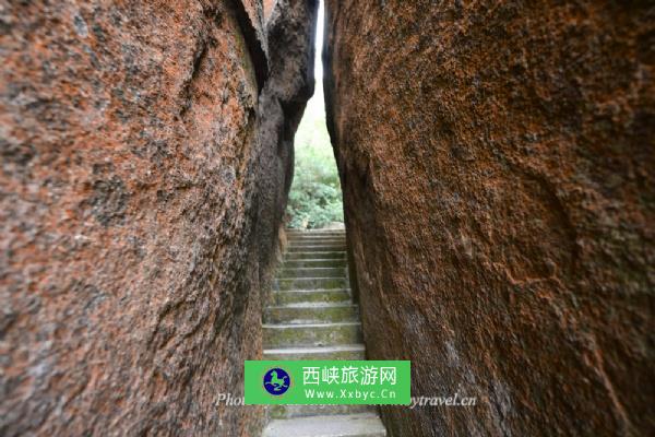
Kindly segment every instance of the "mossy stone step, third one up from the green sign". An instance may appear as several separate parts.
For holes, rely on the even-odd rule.
[[[318,323],[327,321],[357,321],[359,308],[350,303],[346,304],[289,304],[285,306],[267,307],[264,310],[264,320],[267,323]]]

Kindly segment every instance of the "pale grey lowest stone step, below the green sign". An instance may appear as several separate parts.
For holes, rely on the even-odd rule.
[[[373,413],[313,416],[273,421],[264,437],[384,437],[382,421]]]

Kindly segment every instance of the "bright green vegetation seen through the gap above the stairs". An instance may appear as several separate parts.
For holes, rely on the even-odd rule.
[[[320,86],[307,105],[296,132],[295,146],[287,226],[319,228],[332,222],[343,222],[341,184],[325,126]]]

